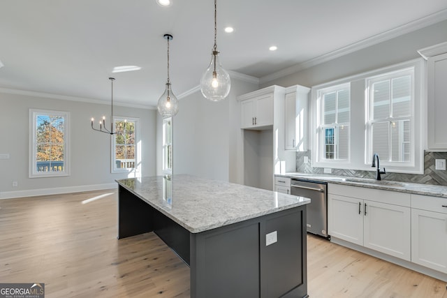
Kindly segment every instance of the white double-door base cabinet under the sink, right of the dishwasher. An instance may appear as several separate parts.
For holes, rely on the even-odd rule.
[[[409,194],[339,184],[328,193],[331,237],[411,260]]]

